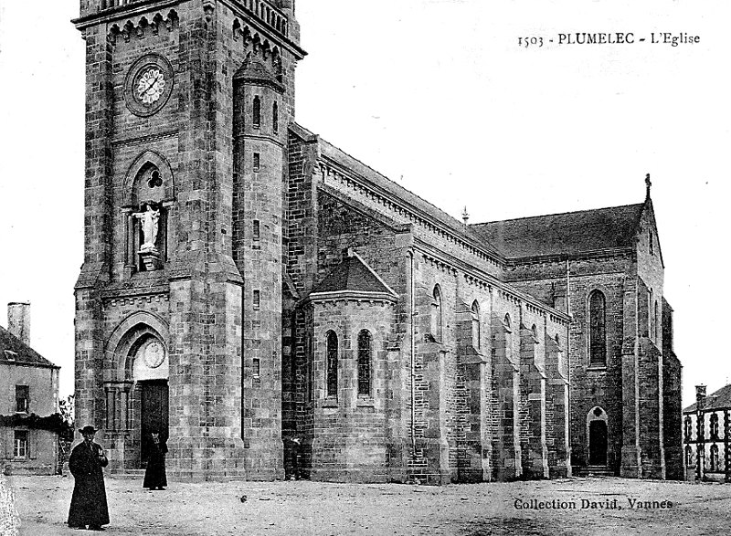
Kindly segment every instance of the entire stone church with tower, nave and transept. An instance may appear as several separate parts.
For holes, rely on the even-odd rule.
[[[679,478],[637,205],[468,225],[295,122],[293,0],[81,0],[76,416],[181,479]]]

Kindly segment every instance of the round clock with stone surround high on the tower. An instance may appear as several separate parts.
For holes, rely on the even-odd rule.
[[[173,90],[173,68],[159,54],[147,54],[132,64],[124,80],[124,101],[133,114],[153,115]]]

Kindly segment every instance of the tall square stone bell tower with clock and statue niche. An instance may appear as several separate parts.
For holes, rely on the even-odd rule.
[[[111,469],[154,431],[174,478],[282,475],[293,0],[81,0],[76,416]]]

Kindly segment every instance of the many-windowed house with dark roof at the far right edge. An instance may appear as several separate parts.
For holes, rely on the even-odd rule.
[[[695,386],[695,404],[683,409],[683,453],[688,478],[731,479],[731,384],[714,394]]]

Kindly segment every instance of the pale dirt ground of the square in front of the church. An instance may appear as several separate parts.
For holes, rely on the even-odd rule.
[[[66,527],[72,478],[12,477],[10,483],[21,534],[93,533]],[[106,485],[111,524],[105,533],[114,535],[672,536],[721,534],[731,526],[731,484],[567,478],[433,488],[301,480],[173,482],[147,491],[141,480],[107,478]],[[630,499],[654,508],[631,508]]]

